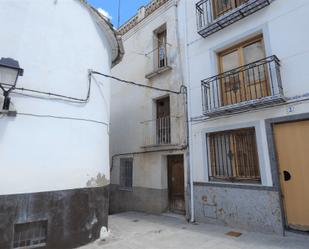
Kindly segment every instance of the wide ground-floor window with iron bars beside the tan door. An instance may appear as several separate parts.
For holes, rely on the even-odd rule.
[[[207,136],[211,180],[261,182],[254,128]]]

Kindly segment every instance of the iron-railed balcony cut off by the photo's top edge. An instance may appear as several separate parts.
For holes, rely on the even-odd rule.
[[[196,4],[197,31],[204,38],[265,8],[273,0],[226,0],[221,4],[214,1],[201,0]]]

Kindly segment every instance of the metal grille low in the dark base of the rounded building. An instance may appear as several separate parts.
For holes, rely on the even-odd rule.
[[[46,246],[47,221],[14,225],[13,248],[38,248]]]

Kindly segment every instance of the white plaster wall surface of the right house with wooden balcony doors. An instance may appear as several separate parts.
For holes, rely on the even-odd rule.
[[[267,55],[277,55],[281,60],[281,76],[284,94],[293,97],[309,92],[309,1],[275,0],[270,6],[246,17],[231,26],[207,37],[197,33],[195,4],[198,1],[180,1],[182,13],[187,18],[180,20],[181,39],[185,40],[185,29],[188,31],[186,44],[189,63],[188,84],[190,87],[191,117],[202,115],[201,80],[218,73],[215,53],[240,40],[263,33]],[[186,9],[185,9],[186,8]],[[308,112],[307,104],[297,104],[292,113],[286,107],[277,107],[258,112],[216,118],[212,121],[192,123],[193,174],[195,181],[207,181],[207,163],[204,151],[204,135],[209,129],[221,129],[231,126],[241,127],[250,122],[259,124],[257,134],[261,134],[259,154],[263,158],[261,165],[263,185],[271,186],[272,178],[266,143],[264,120],[267,118]]]

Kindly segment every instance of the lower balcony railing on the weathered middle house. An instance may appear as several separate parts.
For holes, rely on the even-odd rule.
[[[144,121],[141,124],[144,132],[142,148],[175,147],[181,145],[182,119],[180,117],[166,116]],[[177,131],[177,134],[173,131]]]

